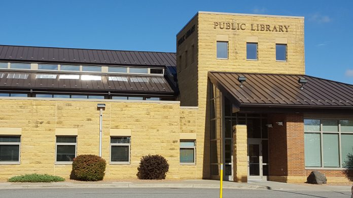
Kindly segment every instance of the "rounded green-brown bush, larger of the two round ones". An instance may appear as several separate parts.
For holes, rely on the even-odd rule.
[[[74,159],[73,173],[82,181],[98,181],[104,177],[107,163],[95,155],[80,155]]]

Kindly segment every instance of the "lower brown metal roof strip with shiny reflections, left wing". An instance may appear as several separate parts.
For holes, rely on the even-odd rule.
[[[38,78],[52,75],[55,78]],[[54,75],[54,76],[53,76]],[[55,76],[56,75],[56,76]],[[79,79],[73,75],[79,76]],[[43,77],[43,76],[42,76]],[[85,78],[87,80],[85,80]],[[92,79],[93,78],[93,79]],[[96,80],[94,80],[97,78]],[[112,91],[118,93],[174,93],[164,76],[108,75],[89,73],[42,73],[0,71],[0,89],[7,90],[62,90],[62,91]]]

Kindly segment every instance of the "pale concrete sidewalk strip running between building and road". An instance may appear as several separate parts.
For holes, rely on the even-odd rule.
[[[129,182],[51,182],[51,183],[0,183],[0,189],[23,188],[219,188],[216,180],[178,180],[178,181],[129,181]],[[224,189],[271,189],[271,190],[350,190],[351,186],[300,185],[272,181],[250,181],[248,183],[223,182]]]

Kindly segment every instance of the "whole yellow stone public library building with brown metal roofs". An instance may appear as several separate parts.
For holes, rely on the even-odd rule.
[[[0,178],[68,178],[77,155],[136,178],[353,177],[353,85],[305,75],[304,18],[198,12],[177,53],[0,45]]]

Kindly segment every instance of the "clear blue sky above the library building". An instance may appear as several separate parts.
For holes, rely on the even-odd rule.
[[[0,44],[175,52],[197,11],[305,17],[306,74],[353,84],[353,1],[2,1]]]

